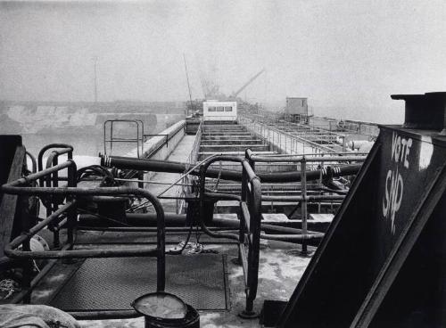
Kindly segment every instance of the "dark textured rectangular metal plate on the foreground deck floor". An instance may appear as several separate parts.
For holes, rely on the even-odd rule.
[[[200,310],[228,309],[226,257],[166,257],[166,291]],[[50,305],[65,311],[128,310],[156,291],[155,258],[87,258]]]

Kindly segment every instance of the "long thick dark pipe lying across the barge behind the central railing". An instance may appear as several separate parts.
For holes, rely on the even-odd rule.
[[[240,157],[240,159],[243,159]],[[101,156],[101,165],[104,167],[114,167],[120,169],[136,169],[153,172],[167,172],[167,173],[184,173],[187,169],[187,163],[181,163],[169,160],[145,160],[145,159],[133,159],[116,156]],[[333,172],[333,176],[351,176],[358,173],[361,164],[351,164],[339,167],[339,169]],[[221,174],[220,174],[221,172]],[[199,176],[199,169],[193,170],[191,175]],[[207,177],[219,177],[224,180],[242,181],[242,172],[214,168],[208,168],[206,171]],[[269,182],[299,182],[301,181],[300,172],[275,172],[275,173],[258,173],[260,181],[262,183]],[[324,170],[322,176],[326,176]],[[307,181],[318,180],[320,178],[320,170],[307,171]]]

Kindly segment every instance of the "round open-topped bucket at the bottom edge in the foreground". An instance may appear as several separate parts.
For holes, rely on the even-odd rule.
[[[200,315],[194,307],[167,292],[143,295],[132,307],[145,317],[145,328],[200,327]]]

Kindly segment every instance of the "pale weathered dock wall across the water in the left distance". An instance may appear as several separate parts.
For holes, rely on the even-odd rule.
[[[172,102],[0,102],[0,130],[7,134],[102,134],[107,119],[141,119],[160,131],[184,119]]]

